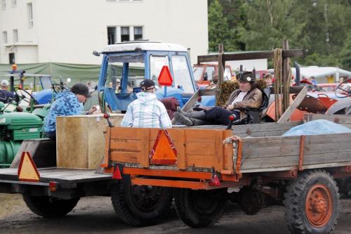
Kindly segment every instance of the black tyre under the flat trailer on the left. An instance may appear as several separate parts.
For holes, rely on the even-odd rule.
[[[44,218],[62,217],[72,211],[77,205],[79,198],[62,200],[49,196],[23,195],[27,207],[34,213]]]

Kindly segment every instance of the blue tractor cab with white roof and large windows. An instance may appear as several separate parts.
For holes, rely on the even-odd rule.
[[[100,56],[100,53],[94,53]],[[177,98],[182,107],[195,93],[187,49],[178,44],[157,41],[128,41],[107,46],[102,51],[102,66],[98,91],[104,91],[105,100],[114,111],[126,111],[129,103],[140,92],[140,82],[152,79],[157,86],[157,98]],[[173,83],[160,86],[158,77],[167,66]]]

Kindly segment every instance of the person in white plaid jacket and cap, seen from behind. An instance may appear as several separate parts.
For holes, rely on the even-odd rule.
[[[154,94],[156,91],[154,82],[151,79],[144,79],[140,82],[140,88],[141,92],[136,94],[138,99],[128,105],[121,126],[171,128],[172,122],[167,110]]]

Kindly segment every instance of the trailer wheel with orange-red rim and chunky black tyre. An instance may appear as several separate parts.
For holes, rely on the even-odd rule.
[[[328,172],[300,174],[284,197],[285,219],[291,233],[331,233],[336,227],[339,193]]]

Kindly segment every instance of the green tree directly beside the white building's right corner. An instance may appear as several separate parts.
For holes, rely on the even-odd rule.
[[[218,51],[218,44],[223,44],[225,51],[235,50],[230,43],[232,32],[228,26],[227,18],[223,15],[223,8],[218,0],[211,1],[208,6],[208,49]]]

